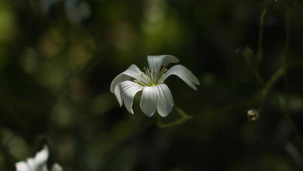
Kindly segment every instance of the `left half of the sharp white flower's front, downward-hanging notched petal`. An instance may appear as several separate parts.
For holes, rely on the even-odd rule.
[[[140,107],[147,116],[153,116],[157,108],[158,89],[156,86],[144,87]]]

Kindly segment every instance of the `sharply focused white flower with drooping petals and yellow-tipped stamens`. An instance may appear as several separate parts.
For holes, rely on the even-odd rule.
[[[195,84],[200,83],[183,65],[175,65],[167,70],[165,66],[179,62],[179,59],[172,55],[147,56],[147,61],[149,68],[144,67],[144,72],[132,64],[126,71],[117,75],[111,83],[111,92],[116,95],[120,107],[124,102],[126,109],[134,114],[131,108],[133,99],[136,93],[142,91],[141,110],[147,116],[152,116],[157,109],[158,113],[165,117],[174,105],[171,91],[164,83],[167,77],[177,75],[194,90],[197,90]]]

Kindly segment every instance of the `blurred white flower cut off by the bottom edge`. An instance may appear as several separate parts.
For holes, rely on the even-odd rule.
[[[26,161],[19,161],[16,163],[17,171],[47,171],[47,158],[48,148],[44,148],[37,152],[34,158],[28,158]],[[59,164],[54,164],[51,171],[62,171],[62,167]]]

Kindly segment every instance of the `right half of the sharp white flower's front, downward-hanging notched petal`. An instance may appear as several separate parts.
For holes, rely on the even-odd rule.
[[[174,99],[166,84],[158,84],[155,87],[158,88],[159,92],[157,99],[157,110],[161,116],[165,117],[172,111]]]

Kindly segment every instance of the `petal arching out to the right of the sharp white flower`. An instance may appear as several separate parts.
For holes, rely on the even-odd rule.
[[[187,83],[187,85],[189,87],[191,87],[194,90],[197,90],[197,88],[195,87],[194,84],[199,85],[200,82],[197,79],[197,77],[195,77],[193,75],[193,73],[188,70],[185,66],[183,65],[175,65],[173,67],[171,67],[162,77],[161,81],[166,80],[167,77],[169,77],[170,75],[177,75],[178,77],[180,77],[185,83]]]

